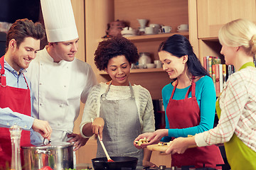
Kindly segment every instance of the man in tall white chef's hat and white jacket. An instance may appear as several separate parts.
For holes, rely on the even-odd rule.
[[[97,84],[89,64],[75,59],[78,30],[70,0],[41,0],[48,45],[28,67],[33,91],[33,118],[48,120],[52,142],[75,142],[74,150],[87,139],[73,133],[74,121],[89,89]],[[38,134],[31,142],[42,142]]]

